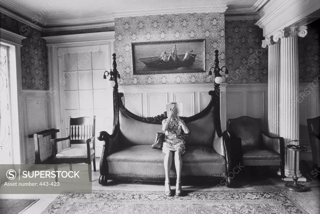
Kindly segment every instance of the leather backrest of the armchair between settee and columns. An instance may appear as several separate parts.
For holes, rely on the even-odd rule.
[[[261,119],[251,117],[240,117],[229,119],[229,130],[241,138],[243,147],[260,148],[262,144],[261,136],[262,122]]]

